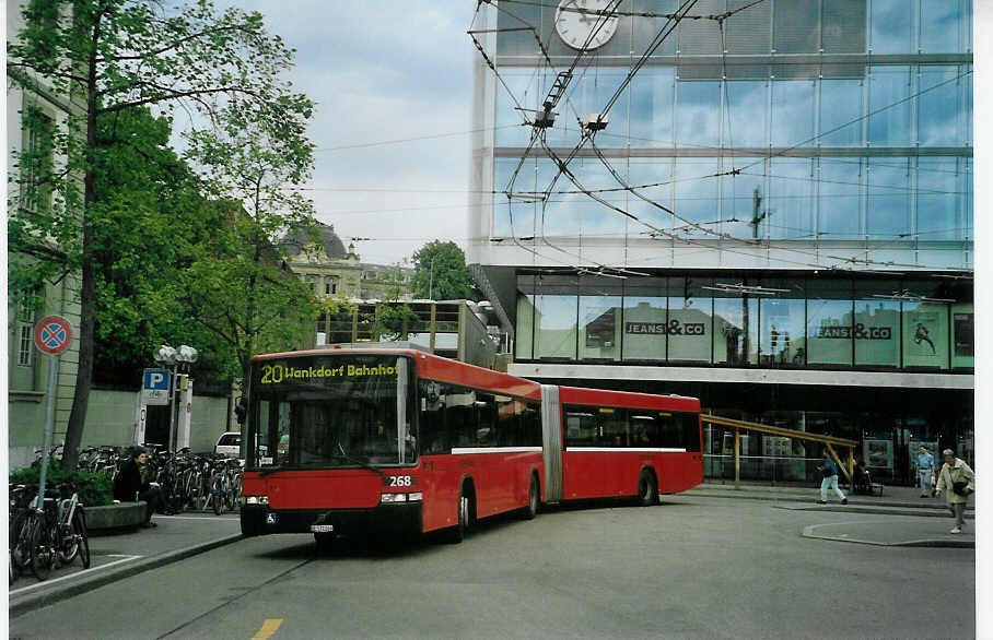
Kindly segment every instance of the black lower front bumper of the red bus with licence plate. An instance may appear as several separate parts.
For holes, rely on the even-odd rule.
[[[242,533],[420,533],[422,503],[377,505],[372,509],[270,509],[261,505],[242,505]]]

